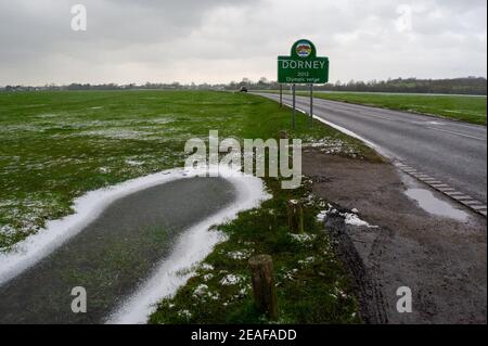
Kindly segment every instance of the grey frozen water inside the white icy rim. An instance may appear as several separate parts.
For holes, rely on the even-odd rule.
[[[113,202],[80,233],[0,286],[0,324],[103,322],[151,277],[181,232],[235,197],[222,178],[191,178]],[[87,290],[87,313],[72,312],[75,286]]]

